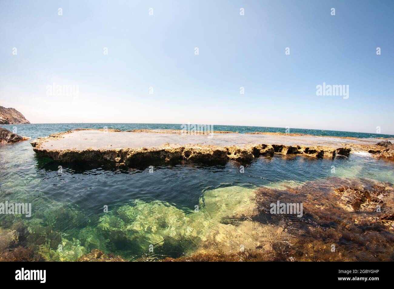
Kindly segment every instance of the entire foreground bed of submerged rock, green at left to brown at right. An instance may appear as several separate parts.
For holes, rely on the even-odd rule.
[[[115,251],[127,260],[130,251],[160,258],[150,245],[156,254],[158,246],[184,252],[164,261],[394,261],[393,196],[388,183],[338,177],[227,186],[204,191],[197,210],[136,200],[103,214],[97,227],[56,207],[37,213],[46,221],[26,220],[28,232],[20,220],[0,229],[0,261],[124,261],[108,254]],[[271,214],[278,200],[303,203],[303,215]]]

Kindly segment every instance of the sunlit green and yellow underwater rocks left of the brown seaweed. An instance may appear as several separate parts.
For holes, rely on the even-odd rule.
[[[206,190],[195,210],[158,200],[135,200],[102,213],[95,226],[81,211],[52,202],[46,210],[37,212],[36,218],[8,215],[2,218],[2,224],[9,227],[20,222],[26,228],[22,244],[33,247],[46,261],[76,261],[93,249],[104,253],[130,249],[148,253],[150,245],[165,244],[193,252],[202,242],[213,246],[225,236],[233,239],[237,233],[228,236],[231,230],[237,229],[239,234],[240,224],[253,223],[247,219],[256,209],[253,192],[242,186]],[[236,226],[223,224],[237,219]]]

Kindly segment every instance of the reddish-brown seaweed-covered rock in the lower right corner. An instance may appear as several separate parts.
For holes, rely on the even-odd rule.
[[[394,189],[367,180],[330,177],[296,188],[260,188],[260,215],[283,224],[288,261],[394,261]],[[303,203],[303,216],[270,214],[270,204]],[[278,253],[277,251],[277,253]]]

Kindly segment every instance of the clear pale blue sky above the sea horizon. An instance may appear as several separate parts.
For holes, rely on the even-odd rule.
[[[31,123],[394,134],[394,1],[0,2],[0,105]]]

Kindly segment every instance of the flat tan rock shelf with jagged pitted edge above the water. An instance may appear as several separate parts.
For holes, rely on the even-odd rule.
[[[77,134],[78,133],[78,134]],[[126,135],[128,133],[128,135]],[[70,134],[71,137],[70,137]],[[111,140],[105,140],[108,134],[115,134]],[[139,147],[122,147],[123,144],[116,145],[117,137],[119,139],[132,137],[138,139],[140,136],[154,138],[154,135],[160,134],[165,142],[161,145],[149,146],[150,138],[147,138],[147,147],[140,145]],[[91,136],[95,138],[89,139]],[[195,134],[193,139],[189,141],[182,140],[184,143],[170,143],[169,137],[173,140],[177,136],[182,136],[179,131],[149,131],[136,130],[121,132],[118,130],[93,130],[93,129],[77,129],[74,131],[61,132],[52,134],[48,137],[38,138],[31,142],[33,150],[43,157],[50,157],[54,160],[62,162],[112,162],[115,164],[130,165],[133,163],[147,162],[152,160],[173,161],[173,160],[190,160],[190,161],[218,161],[225,162],[227,160],[250,161],[261,155],[273,156],[274,154],[282,155],[301,155],[314,158],[333,158],[336,155],[349,156],[351,152],[369,152],[375,153],[375,157],[390,158],[390,149],[384,151],[382,146],[366,143],[365,140],[359,141],[355,139],[355,143],[342,143],[342,138],[329,138],[331,142],[327,142],[327,138],[313,136],[312,141],[308,139],[310,145],[297,144],[297,136],[286,134],[268,134],[270,140],[275,143],[262,143],[264,138],[253,138],[245,142],[239,142],[238,138],[232,138],[231,135],[240,136],[241,134],[226,132],[226,134],[216,134],[217,136],[229,136],[226,139],[228,145],[215,145],[215,136],[210,142],[206,142],[206,136]],[[246,134],[245,134],[246,135]],[[252,134],[249,134],[252,135]],[[255,134],[258,136],[259,134]],[[281,139],[276,140],[276,136]],[[308,136],[304,136],[306,138]],[[64,140],[67,138],[67,140]],[[205,139],[204,139],[205,138]],[[247,136],[243,136],[247,138]],[[296,138],[296,139],[293,139]],[[64,144],[62,143],[64,140]],[[176,139],[177,140],[177,139]],[[201,140],[201,141],[200,141]],[[280,144],[279,141],[284,140],[289,144]],[[192,142],[195,142],[194,144]],[[359,143],[357,143],[359,141]],[[249,142],[249,143],[247,143]],[[253,143],[255,142],[255,143]],[[158,144],[159,142],[156,142]],[[223,143],[221,140],[218,143]],[[321,145],[326,143],[327,145]],[[365,143],[365,144],[364,144]],[[77,148],[78,145],[80,148]],[[128,144],[124,144],[128,145]],[[383,152],[384,151],[384,152]],[[391,151],[392,153],[392,151]],[[392,157],[391,157],[392,158]]]

